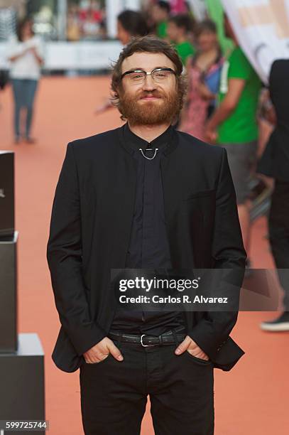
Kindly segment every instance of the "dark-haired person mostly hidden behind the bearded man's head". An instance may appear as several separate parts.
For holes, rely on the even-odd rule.
[[[134,36],[146,36],[148,32],[146,19],[141,12],[126,9],[117,16],[117,38],[122,45],[129,43]],[[111,104],[111,100],[106,98],[104,103],[95,109],[94,113],[99,114],[112,107],[114,105]]]

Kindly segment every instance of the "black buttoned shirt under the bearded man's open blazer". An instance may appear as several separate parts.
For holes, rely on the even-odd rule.
[[[133,148],[136,160],[137,183],[133,222],[126,268],[154,269],[171,267],[170,248],[165,225],[163,186],[160,156],[172,139],[173,126],[148,142],[134,134],[129,124],[124,126],[124,140]],[[145,151],[147,148],[152,151]],[[155,153],[156,156],[151,159]],[[158,151],[156,151],[158,149]],[[182,312],[178,311],[129,311],[117,307],[110,331],[149,333],[160,335],[172,328],[185,325]]]

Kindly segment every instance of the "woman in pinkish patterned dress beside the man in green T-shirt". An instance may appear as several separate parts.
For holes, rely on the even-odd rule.
[[[187,100],[178,129],[205,140],[205,124],[215,104],[224,60],[213,21],[202,21],[195,33],[197,53],[187,58]]]

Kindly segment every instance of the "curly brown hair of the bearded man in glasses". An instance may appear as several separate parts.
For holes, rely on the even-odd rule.
[[[119,98],[119,90],[122,90],[121,83],[121,65],[124,59],[129,58],[133,53],[163,53],[166,55],[175,65],[176,80],[178,86],[178,109],[176,117],[180,114],[182,104],[187,90],[187,77],[182,74],[182,60],[180,59],[177,51],[172,44],[163,41],[156,36],[142,36],[138,38],[131,38],[131,41],[124,46],[121,51],[118,60],[111,65],[113,69],[111,77],[111,103],[119,109],[121,113],[121,119],[125,120],[124,114],[121,112],[121,104]]]

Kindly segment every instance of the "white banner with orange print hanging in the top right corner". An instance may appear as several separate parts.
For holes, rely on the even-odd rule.
[[[241,48],[263,82],[289,58],[289,0],[222,0]]]

